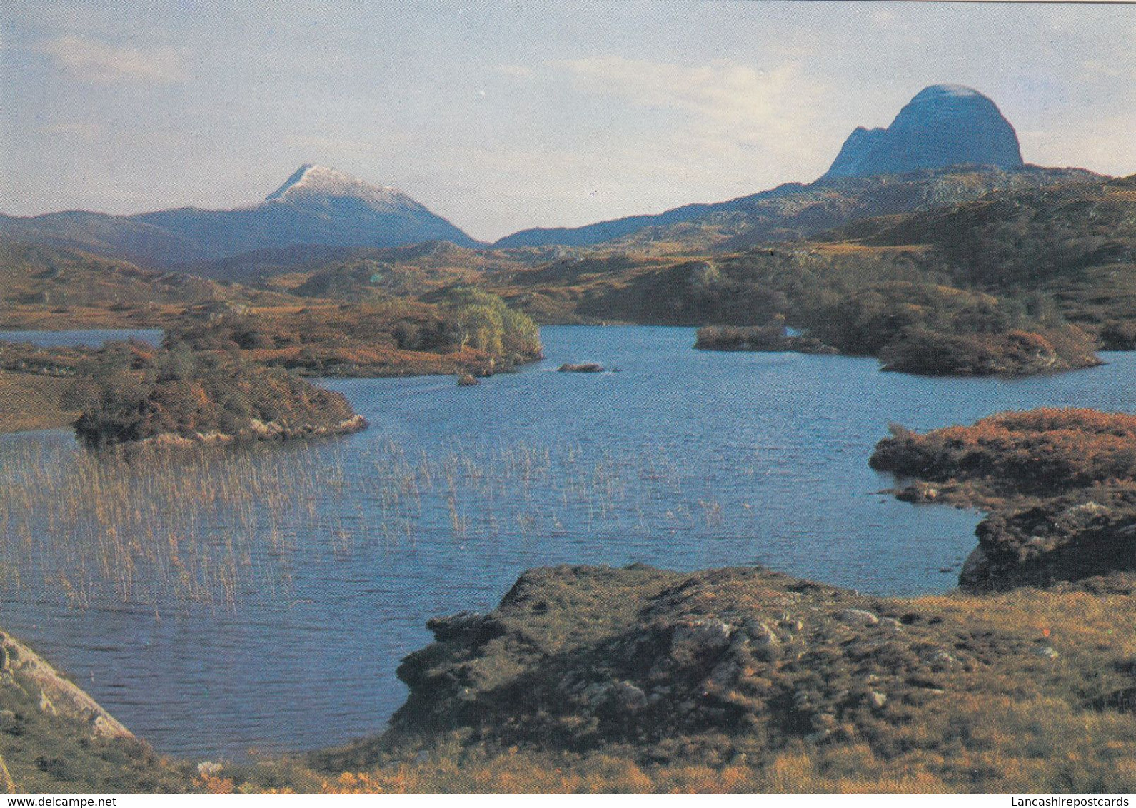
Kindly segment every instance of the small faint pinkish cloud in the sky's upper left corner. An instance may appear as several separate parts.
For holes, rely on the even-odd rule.
[[[186,75],[173,48],[119,47],[69,34],[48,40],[40,51],[73,77],[98,84],[170,84]]]

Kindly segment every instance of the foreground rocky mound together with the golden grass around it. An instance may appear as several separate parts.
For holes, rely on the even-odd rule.
[[[757,567],[532,570],[493,612],[431,621],[384,737],[311,763],[369,771],[342,782],[370,792],[1119,788],[1136,649],[1101,640],[1131,591],[903,599]]]

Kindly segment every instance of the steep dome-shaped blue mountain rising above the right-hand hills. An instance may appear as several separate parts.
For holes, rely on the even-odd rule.
[[[921,90],[886,129],[857,128],[822,179],[946,166],[1022,167],[1018,135],[997,104],[961,84]]]

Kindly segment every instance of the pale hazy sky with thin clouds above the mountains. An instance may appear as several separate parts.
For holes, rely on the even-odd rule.
[[[311,162],[492,241],[810,182],[938,83],[1128,175],[1134,43],[1129,5],[2,0],[0,211],[235,208]]]

